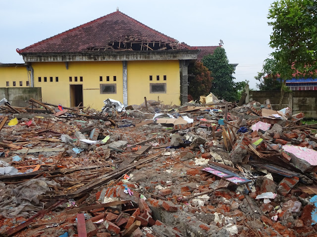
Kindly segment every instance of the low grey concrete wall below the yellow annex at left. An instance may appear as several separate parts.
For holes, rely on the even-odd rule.
[[[30,98],[36,100],[42,98],[42,91],[41,87],[1,87],[0,100],[3,98],[6,98],[12,106],[27,107]]]

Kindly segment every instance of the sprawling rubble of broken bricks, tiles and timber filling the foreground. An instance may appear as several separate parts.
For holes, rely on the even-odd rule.
[[[0,106],[3,236],[316,236],[317,124],[303,114],[30,105]]]

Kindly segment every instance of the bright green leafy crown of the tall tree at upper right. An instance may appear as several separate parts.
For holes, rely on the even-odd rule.
[[[271,53],[275,60],[273,75],[290,79],[317,76],[317,0],[277,0],[267,16],[273,32]]]

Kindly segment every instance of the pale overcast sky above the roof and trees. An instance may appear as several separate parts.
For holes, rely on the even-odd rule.
[[[23,63],[24,48],[88,21],[119,10],[143,24],[191,46],[218,45],[223,40],[230,63],[238,63],[237,81],[262,69],[271,28],[273,0],[1,0],[0,62]]]

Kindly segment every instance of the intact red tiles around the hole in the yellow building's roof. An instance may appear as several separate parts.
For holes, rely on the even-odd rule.
[[[185,43],[178,43],[177,40],[140,23],[122,12],[115,11],[23,49],[17,49],[17,52],[87,52],[92,48],[109,49],[110,42],[122,42],[131,39],[142,42],[162,41],[171,43],[174,49],[192,49]]]

